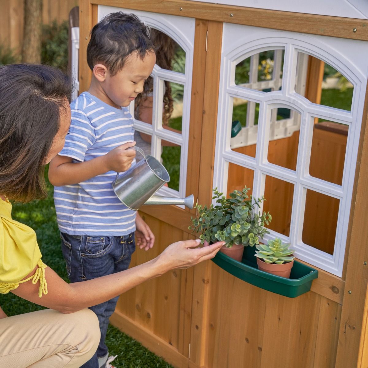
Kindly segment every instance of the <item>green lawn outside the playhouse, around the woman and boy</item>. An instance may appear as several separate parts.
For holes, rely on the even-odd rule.
[[[43,201],[33,201],[27,204],[15,203],[13,219],[25,223],[36,231],[43,261],[60,277],[68,281],[56,223],[53,187],[49,184],[48,196]],[[12,293],[0,294],[0,305],[8,316],[44,309]],[[106,344],[110,354],[118,355],[113,363],[117,368],[173,368],[139,342],[111,325],[107,331]]]

